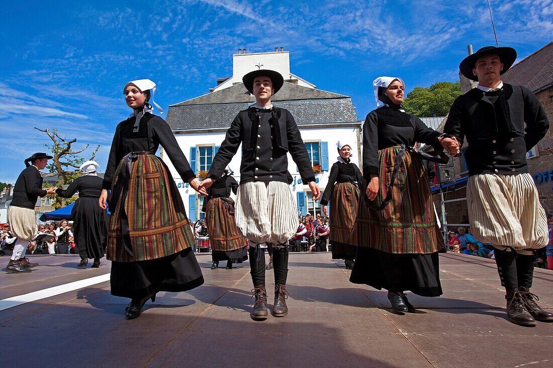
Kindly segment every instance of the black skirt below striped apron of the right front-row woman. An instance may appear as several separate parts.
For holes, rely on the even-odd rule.
[[[425,297],[442,295],[438,253],[391,254],[359,246],[349,281],[378,290],[411,291]]]

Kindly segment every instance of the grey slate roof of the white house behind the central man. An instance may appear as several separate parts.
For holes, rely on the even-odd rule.
[[[298,125],[358,122],[351,97],[284,83],[272,101],[288,109]],[[228,128],[236,114],[255,98],[243,83],[169,106],[167,123],[173,130]]]

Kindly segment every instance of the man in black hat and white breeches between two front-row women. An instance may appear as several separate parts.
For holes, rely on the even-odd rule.
[[[290,152],[298,165],[301,180],[309,185],[315,200],[319,199],[320,191],[294,117],[288,110],[274,107],[271,102],[271,96],[284,84],[283,76],[279,72],[262,69],[247,73],[242,81],[248,92],[255,96],[255,105],[239,112],[234,118],[200,187],[207,188],[221,177],[242,144],[236,225],[250,241],[249,262],[255,296],[251,317],[264,320],[268,312],[263,248],[268,245],[273,248],[275,274],[273,316],[284,317],[288,314],[285,287],[287,245],[298,227],[298,214],[288,185],[286,153]]]

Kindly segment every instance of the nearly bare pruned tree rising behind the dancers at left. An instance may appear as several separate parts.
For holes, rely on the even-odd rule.
[[[85,162],[85,159],[79,156],[79,154],[88,148],[88,144],[81,150],[73,150],[71,145],[77,141],[76,138],[71,140],[62,138],[58,133],[58,129],[39,129],[36,127],[35,129],[46,133],[46,135],[48,135],[53,142],[52,145],[44,144],[54,156],[51,164],[47,166],[50,171],[49,176],[58,176],[58,180],[56,180],[56,186],[58,187],[70,184],[73,180],[79,177],[79,174],[75,169],[79,169],[81,164]],[[89,160],[95,159],[99,148],[100,145],[97,145],[96,149],[92,151],[92,155]],[[62,199],[58,196],[53,197],[55,197],[54,207],[56,209],[63,207],[64,203],[69,204],[75,200],[73,198]]]

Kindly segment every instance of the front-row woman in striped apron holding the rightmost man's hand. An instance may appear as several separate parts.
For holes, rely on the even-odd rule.
[[[418,141],[456,154],[458,144],[404,112],[405,84],[400,78],[379,77],[373,87],[377,106],[378,101],[384,106],[370,112],[363,125],[366,190],[352,232],[352,244],[359,246],[349,280],[384,288],[394,309],[414,311],[404,291],[427,297],[442,294],[438,251],[444,239],[425,166],[405,146]]]

